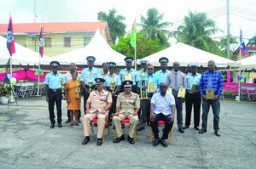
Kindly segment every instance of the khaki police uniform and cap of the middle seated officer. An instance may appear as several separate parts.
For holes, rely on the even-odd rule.
[[[133,82],[131,81],[125,81],[124,87],[131,87],[132,84]],[[130,95],[125,95],[125,92],[120,93],[117,98],[116,107],[120,108],[120,111],[117,112],[119,115],[113,116],[113,124],[115,126],[117,138],[123,136],[121,121],[125,118],[128,118],[131,121],[129,137],[133,138],[134,129],[137,127],[138,116],[132,114],[134,113],[135,109],[140,108],[140,99],[138,94],[131,92]]]

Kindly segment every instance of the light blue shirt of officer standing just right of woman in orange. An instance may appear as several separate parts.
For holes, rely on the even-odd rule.
[[[89,70],[87,67],[82,70],[80,81],[84,82],[85,85],[88,85],[88,82],[90,81],[93,82],[93,85],[96,85],[95,79],[101,77],[102,73],[98,68],[93,67],[91,70]]]

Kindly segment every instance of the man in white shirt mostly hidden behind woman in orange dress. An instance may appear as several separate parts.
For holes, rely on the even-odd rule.
[[[76,70],[76,65],[74,63],[71,63],[69,65],[69,71],[64,75],[64,84],[66,84],[67,81],[72,80],[72,74],[75,70]],[[80,79],[80,78],[81,78],[81,75],[78,74],[78,79]],[[80,117],[81,117],[81,110],[78,110],[78,121],[79,121],[79,123],[81,123]],[[70,121],[71,121],[70,111],[67,110],[67,121],[65,121],[65,123],[69,123]]]

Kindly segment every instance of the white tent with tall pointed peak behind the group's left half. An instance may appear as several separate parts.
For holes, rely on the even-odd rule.
[[[56,60],[61,65],[69,65],[74,63],[76,65],[85,65],[87,56],[96,57],[95,65],[102,65],[103,62],[113,61],[117,65],[125,65],[125,55],[115,52],[108,42],[102,37],[101,32],[97,29],[95,36],[84,47],[71,51],[66,54],[60,54],[52,57],[51,60]]]

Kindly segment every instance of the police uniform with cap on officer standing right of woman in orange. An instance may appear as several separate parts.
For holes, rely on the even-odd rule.
[[[86,60],[90,62],[94,62],[96,58],[93,56],[88,56],[86,57]],[[84,85],[88,90],[89,90],[89,82],[92,82],[92,89],[94,89],[96,86],[96,82],[94,80],[97,77],[102,77],[102,73],[98,68],[92,67],[91,70],[89,68],[84,68],[84,70],[82,70],[81,72],[80,81],[84,82]],[[85,93],[84,91],[84,112],[85,112],[85,104],[87,99],[89,98],[89,95],[90,95],[89,93]]]

